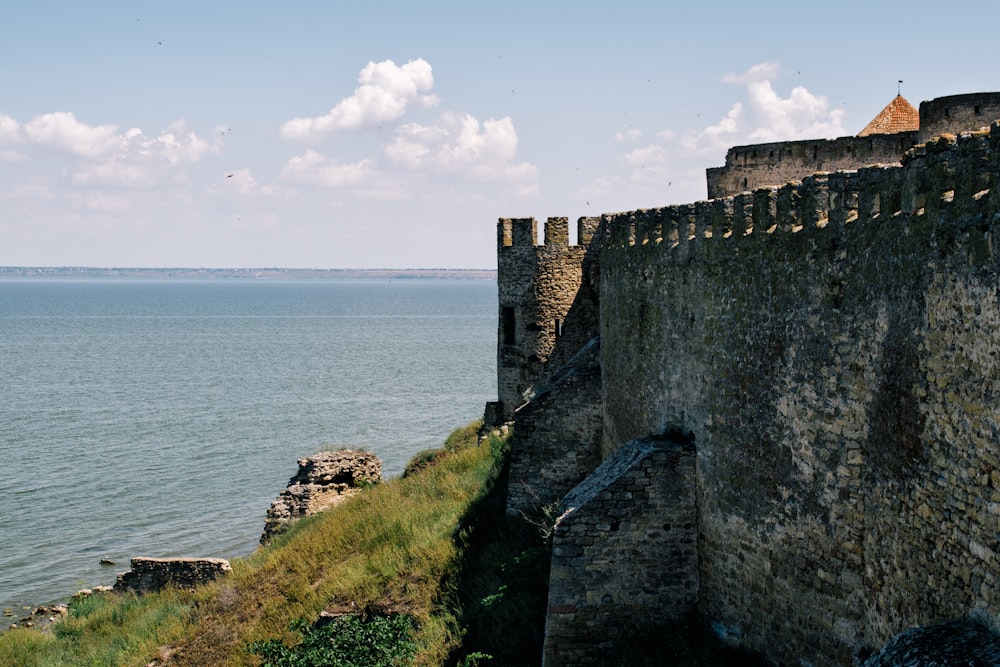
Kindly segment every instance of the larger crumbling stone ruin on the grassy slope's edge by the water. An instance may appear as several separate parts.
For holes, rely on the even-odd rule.
[[[267,511],[261,544],[280,535],[297,519],[321,512],[365,486],[382,481],[382,461],[371,452],[320,452],[298,463],[298,473]]]

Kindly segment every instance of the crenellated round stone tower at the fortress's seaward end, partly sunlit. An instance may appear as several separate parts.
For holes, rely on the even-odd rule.
[[[534,218],[501,218],[497,224],[497,389],[498,412],[505,421],[544,378],[545,362],[565,333],[566,316],[580,290],[583,258],[596,225],[592,219],[581,218],[578,244],[571,246],[567,218],[546,221],[543,245],[536,242]]]

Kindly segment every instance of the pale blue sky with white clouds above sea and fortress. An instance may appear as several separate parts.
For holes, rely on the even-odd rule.
[[[4,4],[0,266],[489,269],[498,218],[1000,90],[983,1]]]

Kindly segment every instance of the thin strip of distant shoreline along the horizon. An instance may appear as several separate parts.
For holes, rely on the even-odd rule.
[[[88,266],[0,266],[3,278],[155,278],[211,280],[448,279],[496,280],[495,269],[210,269]]]

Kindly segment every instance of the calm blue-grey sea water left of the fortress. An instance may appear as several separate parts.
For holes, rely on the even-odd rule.
[[[324,447],[398,475],[495,398],[496,313],[492,281],[0,281],[0,607],[249,554]]]

